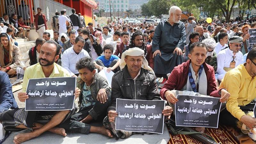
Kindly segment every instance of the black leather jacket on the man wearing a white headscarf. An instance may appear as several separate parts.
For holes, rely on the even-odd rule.
[[[140,75],[134,81],[126,65],[112,77],[111,104],[107,112],[109,110],[116,110],[117,98],[129,100],[161,100],[155,74],[149,70],[140,68]]]

